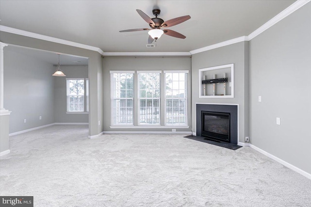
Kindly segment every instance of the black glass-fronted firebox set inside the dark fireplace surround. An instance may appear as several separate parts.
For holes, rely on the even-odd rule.
[[[201,111],[202,137],[230,142],[230,113]]]

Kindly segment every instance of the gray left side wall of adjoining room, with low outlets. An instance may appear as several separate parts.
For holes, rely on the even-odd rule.
[[[52,74],[55,67],[18,53],[17,47],[7,46],[3,51],[4,108],[12,111],[9,133],[53,123]]]

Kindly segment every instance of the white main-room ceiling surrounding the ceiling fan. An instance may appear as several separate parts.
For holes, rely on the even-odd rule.
[[[0,0],[0,24],[102,49],[104,52],[189,52],[249,35],[295,0]],[[146,48],[148,28],[138,15],[163,20],[190,15],[172,29],[186,39],[163,35]]]

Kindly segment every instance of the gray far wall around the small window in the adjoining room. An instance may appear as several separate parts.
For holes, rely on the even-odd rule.
[[[87,78],[87,66],[61,66],[66,77],[54,77],[54,121],[88,123],[88,114],[67,114],[66,78]],[[86,88],[85,88],[86,89]]]

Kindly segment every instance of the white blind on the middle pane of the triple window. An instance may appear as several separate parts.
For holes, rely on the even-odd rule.
[[[138,71],[138,124],[161,122],[161,71]]]

